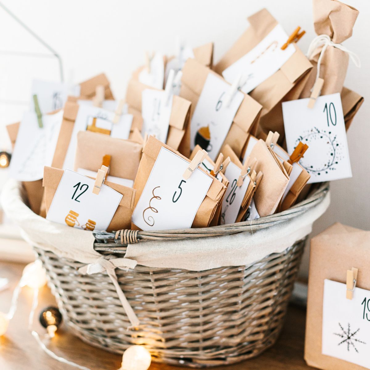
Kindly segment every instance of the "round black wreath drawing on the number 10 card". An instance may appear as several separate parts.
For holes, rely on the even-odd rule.
[[[303,157],[299,161],[299,164],[309,174],[320,175],[334,171],[336,170],[336,165],[344,158],[342,144],[337,142],[337,135],[332,135],[331,131],[313,127],[296,139],[294,149],[300,141],[309,146],[310,153],[319,153],[319,156],[316,157],[316,163],[310,161],[308,157]]]

